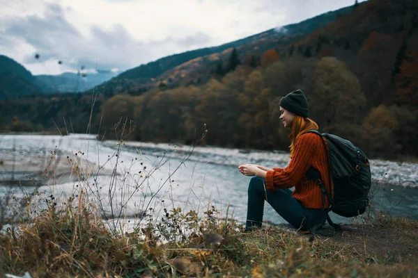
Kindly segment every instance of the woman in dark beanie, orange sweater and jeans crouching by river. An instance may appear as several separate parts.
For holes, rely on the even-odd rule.
[[[302,90],[295,90],[280,100],[280,120],[291,130],[291,161],[287,167],[269,169],[260,165],[240,165],[238,169],[251,178],[248,187],[246,229],[261,227],[264,201],[266,200],[284,220],[302,230],[323,224],[326,211],[323,195],[316,181],[307,179],[307,171],[314,167],[320,174],[320,181],[330,192],[330,170],[327,161],[328,150],[323,139],[315,133],[318,129],[309,119],[307,98]],[[295,187],[295,190],[289,188]],[[329,206],[325,198],[325,208]],[[318,223],[319,222],[319,223]]]

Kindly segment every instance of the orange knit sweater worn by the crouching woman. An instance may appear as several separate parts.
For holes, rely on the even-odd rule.
[[[321,181],[329,193],[330,167],[323,139],[314,133],[304,133],[296,141],[295,153],[291,162],[285,168],[273,168],[265,176],[269,191],[281,188],[292,188],[292,196],[302,203],[305,208],[322,208],[323,197],[316,181],[307,180],[307,171],[314,166],[320,173]],[[325,208],[329,206],[325,197]]]

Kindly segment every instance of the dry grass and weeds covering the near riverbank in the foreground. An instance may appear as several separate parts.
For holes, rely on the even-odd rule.
[[[334,238],[270,227],[243,231],[234,220],[171,211],[131,234],[112,233],[83,195],[49,206],[32,224],[0,236],[0,274],[33,277],[417,277],[415,263],[385,260]],[[191,219],[191,216],[193,218]],[[187,220],[186,220],[187,219]],[[173,221],[182,227],[172,229]],[[417,222],[380,222],[393,233]],[[167,233],[192,231],[187,236]],[[163,236],[165,234],[165,236]],[[181,234],[181,233],[180,233]],[[215,235],[215,236],[214,236]],[[401,234],[399,234],[401,236]],[[200,247],[198,249],[196,247]],[[415,251],[414,256],[416,256]]]

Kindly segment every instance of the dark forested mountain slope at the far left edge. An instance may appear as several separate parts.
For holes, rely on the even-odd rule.
[[[0,99],[43,92],[35,76],[12,58],[0,55]]]

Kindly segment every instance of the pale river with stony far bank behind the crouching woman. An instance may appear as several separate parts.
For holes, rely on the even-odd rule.
[[[34,181],[53,202],[77,197],[83,189],[89,202],[125,219],[173,207],[203,213],[214,206],[220,217],[233,215],[244,222],[250,178],[238,172],[238,165],[286,167],[288,162],[286,152],[101,142],[83,134],[0,135],[0,195],[10,190],[18,197],[27,194]],[[373,208],[418,220],[418,164],[371,161],[371,169]],[[265,220],[284,222],[268,204]]]

